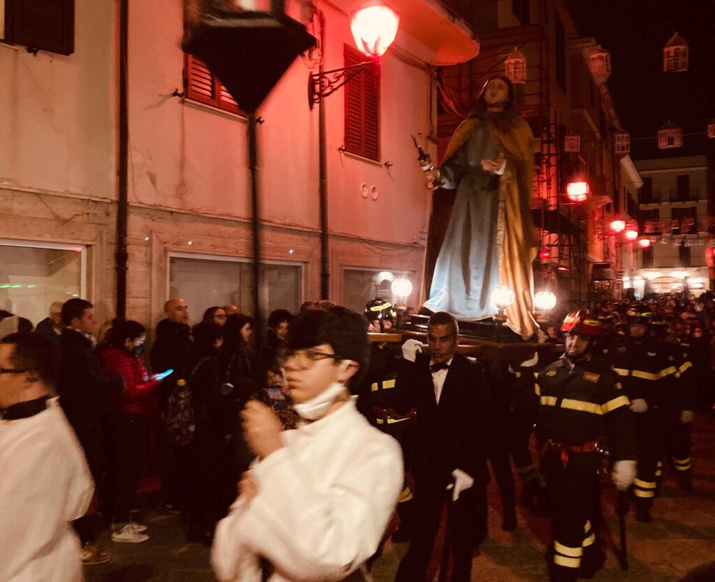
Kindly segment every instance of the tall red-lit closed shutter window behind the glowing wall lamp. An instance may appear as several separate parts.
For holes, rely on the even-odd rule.
[[[365,56],[347,44],[345,66],[360,64]],[[368,67],[345,84],[345,151],[380,161],[380,77]]]

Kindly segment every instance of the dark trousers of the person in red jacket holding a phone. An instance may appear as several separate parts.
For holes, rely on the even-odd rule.
[[[117,411],[114,416],[114,443],[117,464],[114,473],[114,523],[127,523],[137,495],[144,453],[149,439],[149,418]]]

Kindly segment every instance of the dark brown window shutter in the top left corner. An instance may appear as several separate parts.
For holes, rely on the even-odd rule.
[[[74,0],[6,0],[5,39],[30,49],[74,52]]]

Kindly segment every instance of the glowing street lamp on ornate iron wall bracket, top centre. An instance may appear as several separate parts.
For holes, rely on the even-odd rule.
[[[342,69],[320,71],[308,78],[308,104],[310,109],[320,99],[325,99],[340,89],[351,79],[373,66],[380,64],[380,56],[393,44],[400,27],[400,16],[380,0],[368,1],[363,7],[350,14],[350,31],[355,39],[355,46],[370,61],[343,66]]]

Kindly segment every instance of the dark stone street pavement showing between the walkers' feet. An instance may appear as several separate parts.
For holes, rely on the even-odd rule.
[[[631,569],[622,572],[613,551],[618,540],[618,520],[613,511],[613,489],[603,496],[608,561],[593,580],[618,582],[715,581],[715,419],[699,416],[692,457],[694,492],[682,493],[674,478],[666,476],[663,494],[656,499],[653,523],[638,523],[628,516],[628,550]],[[541,582],[548,580],[543,552],[548,543],[546,518],[520,508],[519,527],[501,531],[501,505],[495,486],[490,486],[490,537],[473,563],[475,581]],[[209,550],[188,545],[177,516],[149,511],[140,520],[152,538],[140,544],[116,544],[109,533],[100,537],[112,561],[85,568],[88,582],[202,582],[215,580],[209,568]],[[613,533],[613,539],[611,538]],[[375,563],[375,582],[392,581],[407,544],[388,541]],[[711,568],[708,570],[708,568]],[[700,574],[697,576],[697,574]],[[415,581],[418,582],[418,581]]]

